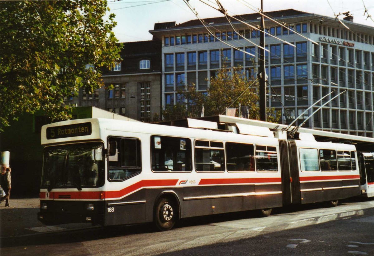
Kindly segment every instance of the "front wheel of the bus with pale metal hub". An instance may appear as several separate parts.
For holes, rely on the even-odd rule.
[[[172,229],[177,218],[177,211],[172,201],[161,198],[156,205],[154,224],[159,231]]]

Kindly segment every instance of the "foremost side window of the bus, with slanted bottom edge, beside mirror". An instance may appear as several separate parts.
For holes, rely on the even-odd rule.
[[[108,177],[111,181],[125,180],[141,172],[140,140],[111,137],[109,145],[117,146],[114,156],[108,157]],[[109,146],[108,146],[109,148]]]

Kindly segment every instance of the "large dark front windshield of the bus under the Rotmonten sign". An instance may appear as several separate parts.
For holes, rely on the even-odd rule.
[[[44,152],[42,188],[101,187],[104,145],[99,142],[48,147]]]

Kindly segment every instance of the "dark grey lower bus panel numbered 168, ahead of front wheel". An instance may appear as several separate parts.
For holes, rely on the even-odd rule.
[[[107,201],[106,225],[121,225],[145,222],[144,189],[139,190],[125,198]]]

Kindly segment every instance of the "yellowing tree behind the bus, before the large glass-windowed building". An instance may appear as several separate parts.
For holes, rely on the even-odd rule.
[[[237,108],[239,104],[248,106],[248,118],[260,119],[258,82],[255,78],[247,78],[242,67],[221,68],[215,77],[210,79],[207,93],[196,90],[194,84],[187,85],[186,90],[178,91],[183,99],[163,111],[165,120],[199,117],[204,106],[204,115],[225,114],[226,108]],[[183,103],[184,99],[186,102]],[[238,114],[238,113],[237,113]],[[267,120],[278,123],[281,111],[267,108]]]

